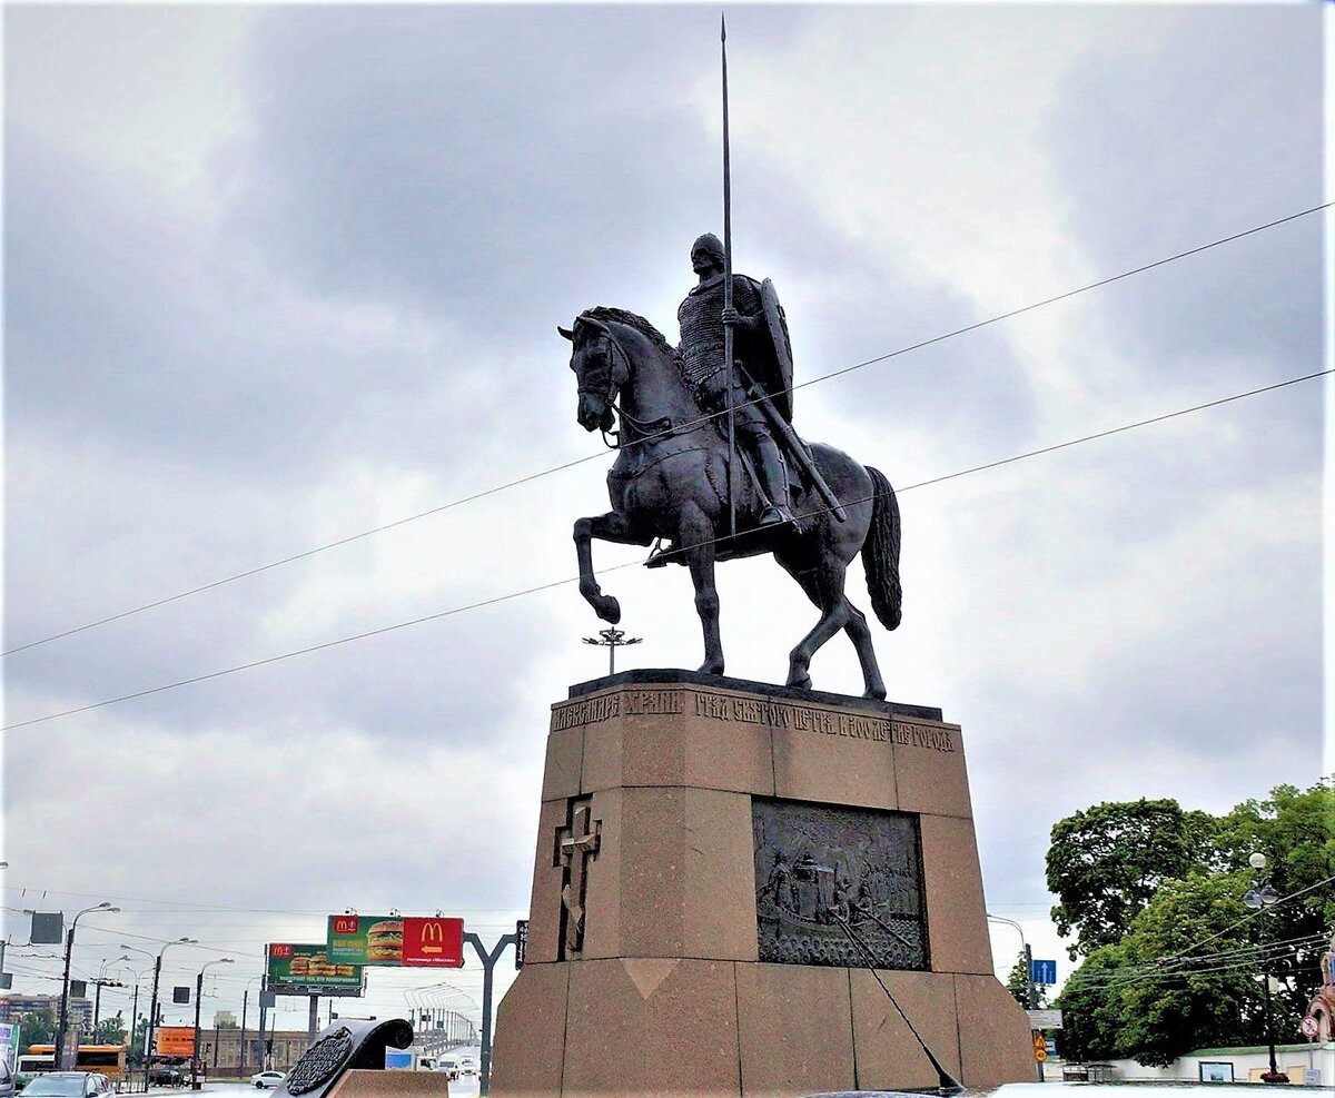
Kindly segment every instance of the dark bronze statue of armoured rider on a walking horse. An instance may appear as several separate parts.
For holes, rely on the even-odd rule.
[[[591,541],[653,545],[650,568],[684,564],[705,634],[701,671],[724,673],[714,564],[772,553],[820,609],[789,655],[788,685],[809,689],[816,651],[840,629],[862,667],[865,696],[885,684],[866,617],[845,594],[861,552],[872,609],[900,624],[900,510],[885,477],[841,450],[804,442],[792,427],[788,321],[769,279],[733,274],[713,234],[690,254],[698,282],[677,310],[672,347],[642,317],[599,306],[558,331],[573,343],[578,422],[613,434],[611,510],[575,522],[579,592],[615,625]]]

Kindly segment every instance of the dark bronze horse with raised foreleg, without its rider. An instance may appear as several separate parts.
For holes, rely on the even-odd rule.
[[[621,605],[602,593],[593,570],[593,538],[622,545],[670,540],[658,560],[684,562],[696,586],[705,632],[701,671],[724,673],[718,636],[718,560],[773,553],[821,612],[789,655],[788,685],[809,689],[812,656],[844,629],[862,665],[865,697],[885,697],[866,617],[844,592],[848,565],[861,552],[872,608],[886,629],[900,624],[900,509],[885,477],[833,446],[813,443],[816,468],[842,504],[840,521],[813,492],[793,494],[796,525],[757,528],[764,501],[749,477],[736,477],[737,534],[730,534],[728,442],[716,417],[704,415],[678,367],[678,355],[646,319],[622,309],[581,313],[558,331],[574,345],[570,369],[579,385],[577,418],[589,431],[617,426],[617,460],[607,473],[611,510],[575,522],[579,593],[615,625]]]

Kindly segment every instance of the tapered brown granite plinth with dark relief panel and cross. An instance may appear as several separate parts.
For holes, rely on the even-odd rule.
[[[627,672],[553,705],[542,796],[493,1093],[934,1086],[889,996],[964,1085],[1033,1078],[939,709]]]

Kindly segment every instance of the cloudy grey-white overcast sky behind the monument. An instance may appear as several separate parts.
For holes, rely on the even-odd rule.
[[[777,283],[798,381],[1322,203],[1322,16],[730,9],[736,266]],[[11,4],[4,35],[5,648],[593,457],[11,655],[7,723],[575,574],[610,455],[555,327],[610,305],[676,342],[722,220],[717,7]],[[889,693],[963,725],[989,910],[1040,956],[1061,816],[1322,773],[1322,382],[913,485],[1323,369],[1320,232],[797,394],[901,490]],[[626,665],[700,663],[684,570],[603,585]],[[806,600],[769,561],[720,589],[729,673],[782,681]],[[190,935],[168,979],[235,956],[234,1010],[264,942],[347,906],[494,940],[598,628],[567,584],[8,732],[8,932],[112,899],[76,972]],[[813,677],[860,692],[842,637]],[[23,952],[15,990],[57,990]],[[378,970],[367,1011],[430,982]]]

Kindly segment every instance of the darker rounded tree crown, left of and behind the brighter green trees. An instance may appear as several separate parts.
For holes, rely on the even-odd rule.
[[[1048,847],[1052,920],[1071,959],[1116,943],[1169,878],[1208,867],[1219,823],[1176,800],[1105,801],[1059,820]]]

